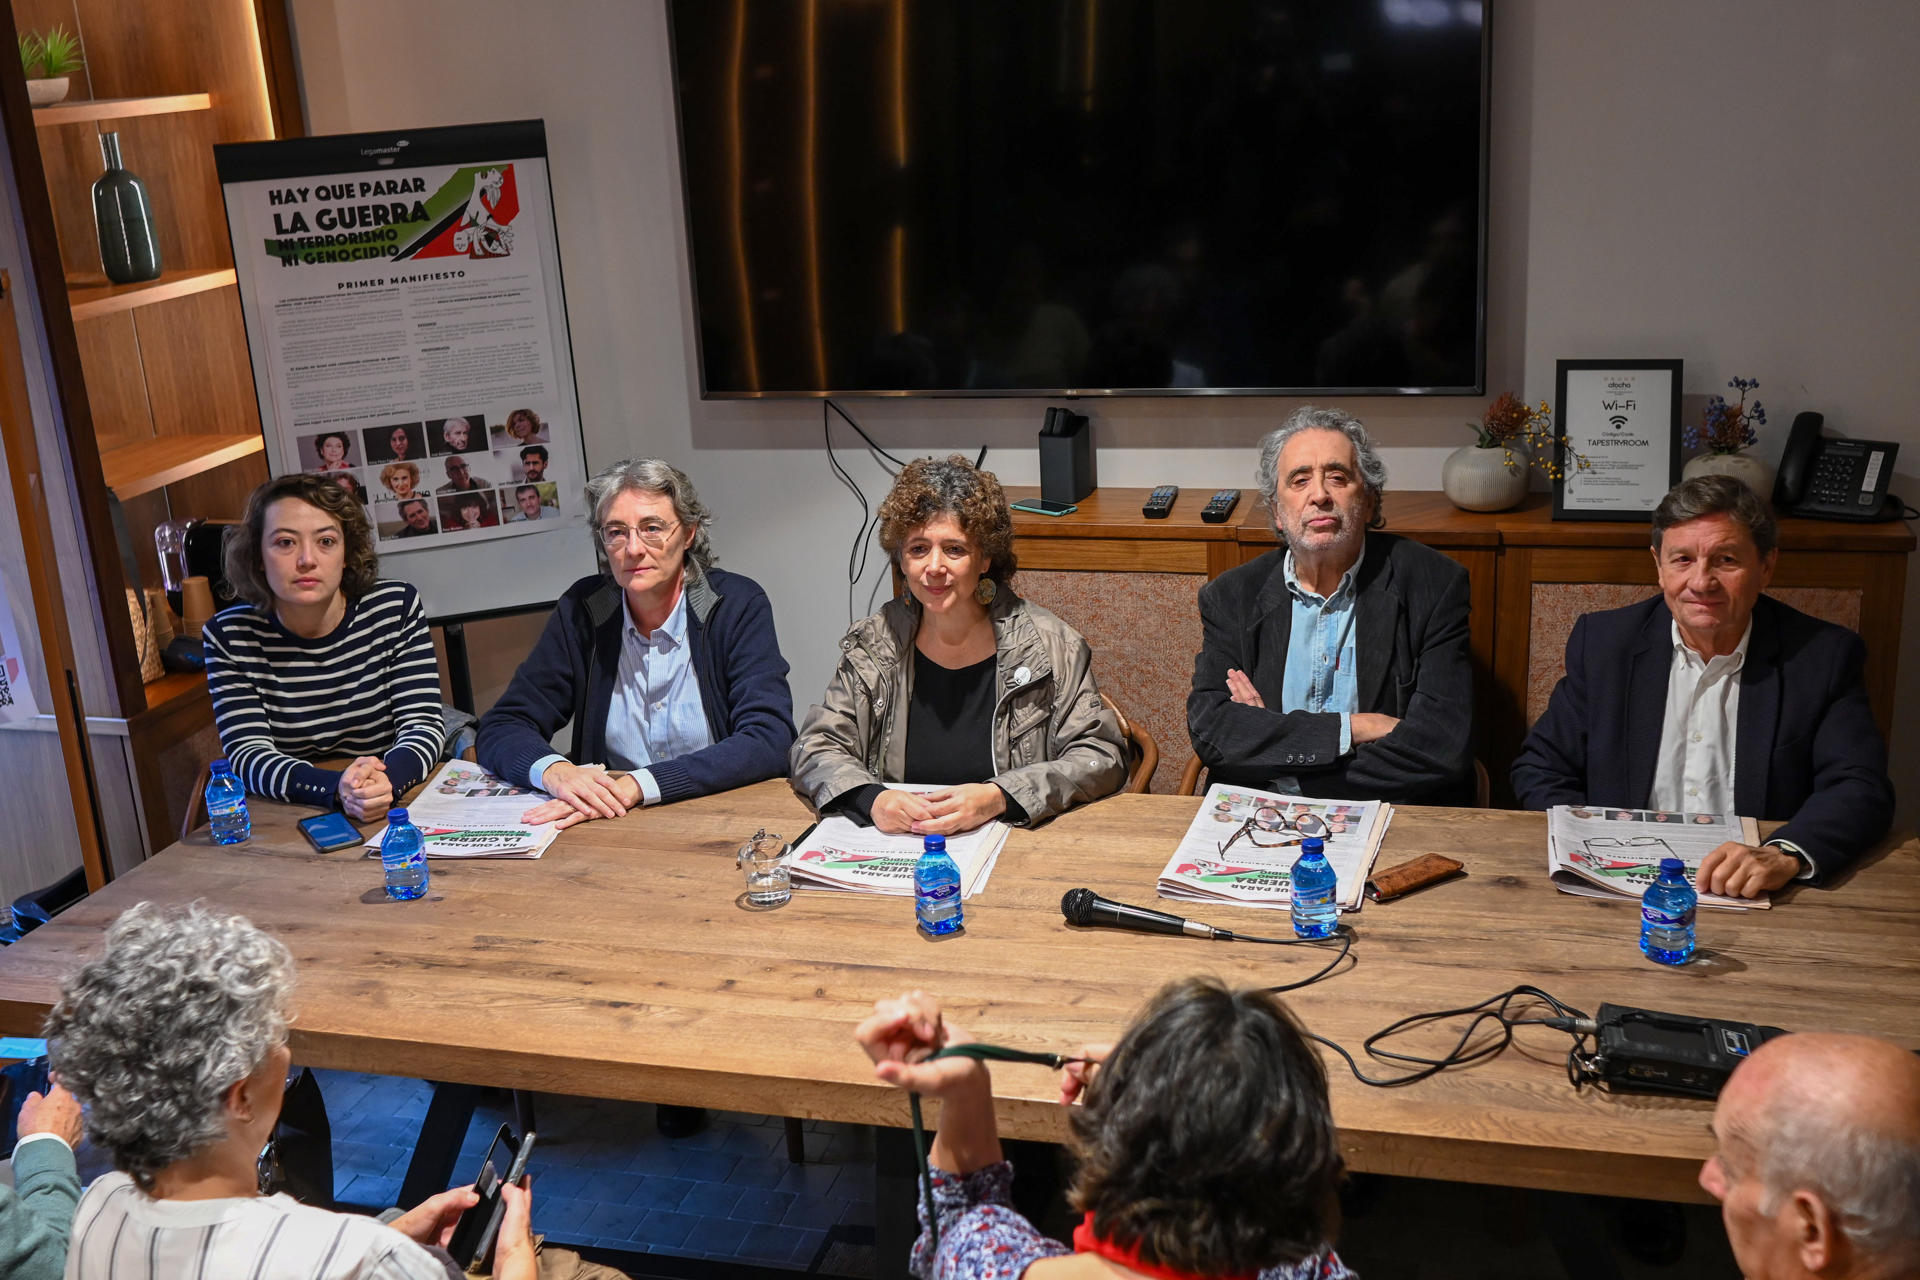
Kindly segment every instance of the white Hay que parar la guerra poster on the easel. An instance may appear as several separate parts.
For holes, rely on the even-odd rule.
[[[342,480],[382,557],[584,541],[545,127],[213,150],[273,474]]]

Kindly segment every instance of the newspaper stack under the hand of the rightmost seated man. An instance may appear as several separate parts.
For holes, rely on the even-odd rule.
[[[1695,885],[1701,860],[1728,841],[1759,844],[1751,818],[1734,814],[1674,814],[1615,810],[1597,804],[1555,804],[1548,810],[1548,873],[1561,892],[1584,898],[1640,898],[1661,877],[1661,860],[1686,864]],[[1701,906],[1768,910],[1766,898],[1699,896]]]

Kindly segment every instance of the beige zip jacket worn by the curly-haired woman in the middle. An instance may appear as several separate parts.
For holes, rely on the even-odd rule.
[[[1119,718],[1092,681],[1079,631],[1006,587],[989,606],[995,633],[993,766],[987,781],[1037,823],[1127,783]],[[920,604],[887,601],[841,639],[826,697],[787,756],[793,789],[814,810],[870,783],[902,779]]]

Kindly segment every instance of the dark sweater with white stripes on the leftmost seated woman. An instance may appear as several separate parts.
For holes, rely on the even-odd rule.
[[[413,585],[374,583],[317,639],[252,604],[221,610],[204,635],[213,722],[248,794],[332,808],[340,771],[307,760],[380,756],[394,794],[440,762],[440,672]]]

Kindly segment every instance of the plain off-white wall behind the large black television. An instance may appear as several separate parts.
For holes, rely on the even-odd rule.
[[[1496,0],[1492,390],[1553,395],[1559,357],[1678,355],[1688,413],[1761,380],[1778,457],[1793,413],[1905,443],[1920,501],[1920,8],[1891,0]],[[553,148],[589,462],[674,459],[730,568],[774,597],[801,708],[847,622],[858,510],[818,403],[699,399],[664,10],[655,0],[290,0],[311,132],[538,115]],[[1246,486],[1294,401],[1092,401],[1100,480]],[[1081,405],[1087,409],[1089,405]],[[1434,489],[1478,401],[1348,403],[1392,486]],[[1035,484],[1041,403],[851,401],[895,453],[993,447]],[[849,439],[835,428],[835,439]],[[877,499],[885,472],[843,461]],[[877,557],[876,557],[877,560]],[[868,585],[879,572],[870,562]],[[1907,635],[1920,637],[1908,576]],[[1908,643],[1908,651],[1916,649]],[[1185,654],[1179,656],[1185,660]],[[1920,662],[1901,670],[1895,777],[1920,762]],[[1912,787],[1903,785],[1903,823]]]

